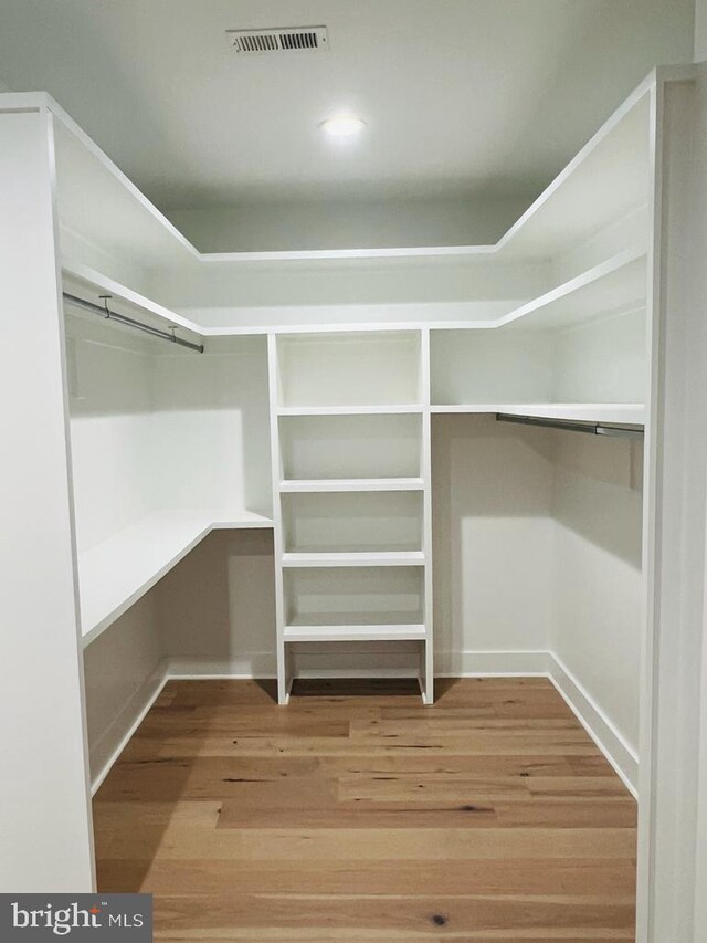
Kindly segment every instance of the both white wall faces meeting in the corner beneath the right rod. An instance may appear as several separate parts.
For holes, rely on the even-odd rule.
[[[453,415],[432,454],[437,671],[549,671],[635,787],[641,443]]]

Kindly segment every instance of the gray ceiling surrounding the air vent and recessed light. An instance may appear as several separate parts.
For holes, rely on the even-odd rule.
[[[320,54],[224,38],[319,23]],[[692,46],[693,0],[0,0],[0,80],[49,91],[168,210],[535,193]],[[368,127],[335,146],[340,109]]]

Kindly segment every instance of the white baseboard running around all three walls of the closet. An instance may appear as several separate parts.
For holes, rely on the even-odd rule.
[[[337,667],[336,657],[329,652],[313,652],[315,664],[302,670],[304,678],[400,678],[413,677],[402,663],[373,667],[362,662],[354,670]],[[120,712],[118,717],[92,748],[92,759],[101,757],[102,747],[108,755],[93,782],[95,793],[112,766],[125,750],[128,741],[143,722],[162,688],[170,680],[274,678],[272,652],[254,652],[236,660],[173,658],[162,662],[147,679]],[[437,654],[437,678],[548,678],[567,702],[587,733],[613,766],[622,782],[636,797],[639,758],[611,720],[577,680],[572,672],[551,651],[460,651]],[[109,748],[106,744],[117,746]],[[92,764],[93,766],[94,764]]]

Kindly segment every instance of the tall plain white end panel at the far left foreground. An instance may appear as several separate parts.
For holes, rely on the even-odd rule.
[[[91,891],[50,118],[0,115],[0,890]]]

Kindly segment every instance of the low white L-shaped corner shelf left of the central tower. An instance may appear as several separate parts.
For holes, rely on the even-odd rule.
[[[87,646],[214,528],[272,527],[251,511],[150,514],[78,555],[83,643]]]

